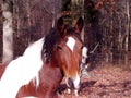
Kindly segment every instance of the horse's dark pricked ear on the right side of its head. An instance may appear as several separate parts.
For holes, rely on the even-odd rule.
[[[74,25],[74,29],[76,33],[81,33],[82,32],[82,28],[84,26],[84,21],[82,17],[79,17],[76,24]]]

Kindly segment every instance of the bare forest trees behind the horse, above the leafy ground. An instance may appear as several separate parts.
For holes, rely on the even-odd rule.
[[[2,0],[0,62],[21,56],[62,15],[68,23],[84,19],[82,39],[93,65],[110,63],[131,69],[130,14],[130,0]]]

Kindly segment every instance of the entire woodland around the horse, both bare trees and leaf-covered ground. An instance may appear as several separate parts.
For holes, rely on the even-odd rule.
[[[131,0],[2,0],[0,63],[23,54],[29,44],[55,27],[59,16],[67,23],[84,19],[81,36],[88,48],[91,76],[82,78],[79,98],[131,98]],[[64,87],[62,83],[67,98],[74,98]]]

